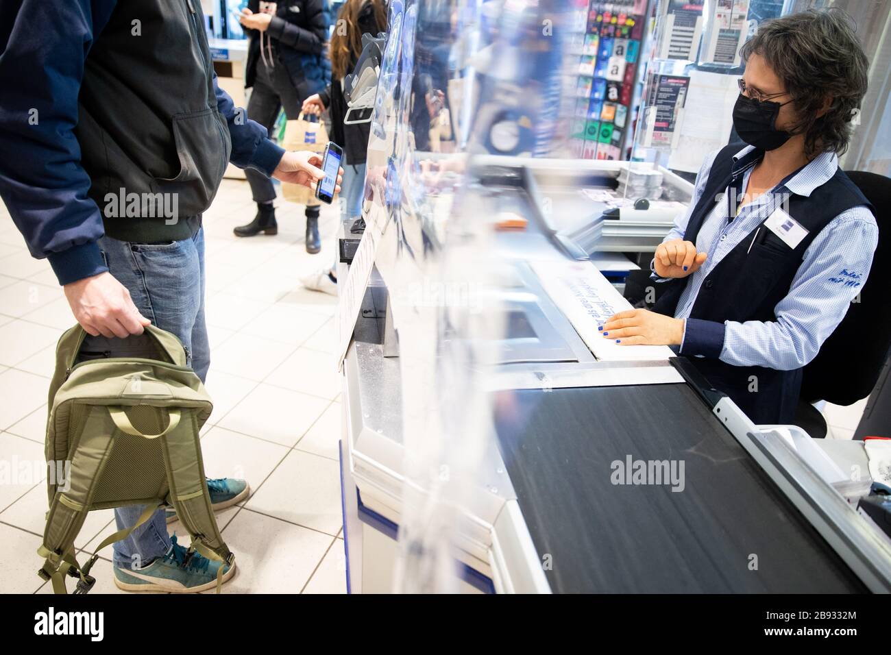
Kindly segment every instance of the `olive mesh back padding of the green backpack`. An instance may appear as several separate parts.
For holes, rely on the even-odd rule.
[[[94,411],[103,411],[95,407]],[[149,405],[127,407],[127,418],[136,430],[157,434],[167,427],[167,413]],[[163,488],[162,488],[163,487]],[[93,495],[93,504],[141,500],[166,494],[167,468],[156,439],[133,437],[114,431],[109,461]]]

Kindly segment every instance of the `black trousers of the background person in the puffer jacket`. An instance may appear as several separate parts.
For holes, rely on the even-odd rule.
[[[274,61],[274,66],[270,67],[264,61],[257,61],[257,77],[248,101],[249,119],[271,130],[282,107],[288,119],[296,120],[303,101],[281,61]],[[244,175],[248,178],[255,202],[275,200],[275,186],[271,179],[253,168],[245,168]],[[318,206],[307,207],[307,217],[318,217],[319,209]]]

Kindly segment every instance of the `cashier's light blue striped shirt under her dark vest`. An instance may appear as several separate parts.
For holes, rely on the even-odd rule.
[[[735,158],[739,159],[752,150],[752,146],[747,146]],[[693,208],[705,190],[708,172],[716,155],[717,151],[709,155],[699,170],[690,208],[675,219],[674,227],[664,242],[683,239]],[[754,163],[745,172],[742,193],[748,188],[748,176]],[[689,276],[674,317],[690,316],[699,287],[707,275],[774,209],[781,207],[782,193],[809,196],[835,175],[837,169],[838,157],[835,153],[824,152],[785,184],[779,184],[771,192],[749,202],[732,221],[726,216],[726,197],[722,202],[715,203],[715,209],[705,218],[696,237],[696,250],[707,252],[708,258],[698,271]],[[835,217],[805,250],[789,294],[774,308],[776,321],[724,321],[721,361],[740,366],[767,366],[781,371],[797,369],[810,362],[823,341],[841,323],[851,302],[866,282],[878,242],[879,226],[868,208],[854,207]],[[655,273],[653,279],[664,282]],[[684,341],[687,336],[685,330]],[[685,345],[681,345],[682,353]]]

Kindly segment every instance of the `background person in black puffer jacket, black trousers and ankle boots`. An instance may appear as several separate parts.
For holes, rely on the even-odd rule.
[[[328,37],[328,12],[324,0],[249,0],[241,10],[240,22],[249,35],[245,87],[253,87],[248,101],[248,118],[272,130],[279,111],[288,119],[298,118],[300,105],[321,91],[327,80],[323,49]],[[276,234],[275,187],[257,171],[246,170],[250,192],[257,203],[257,215],[247,225],[234,229],[236,236]],[[319,211],[306,209],[306,248],[316,253],[319,238]]]

